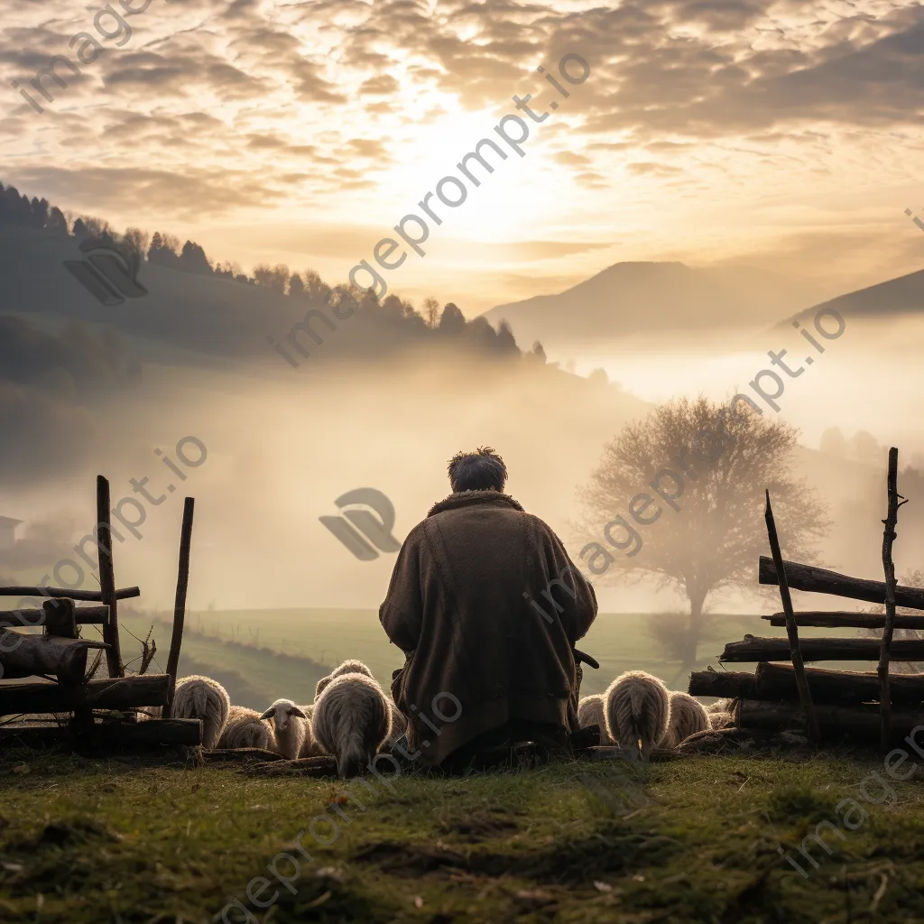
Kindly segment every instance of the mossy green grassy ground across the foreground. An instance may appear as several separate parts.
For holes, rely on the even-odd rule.
[[[255,907],[248,882],[272,879],[266,865],[326,809],[339,836],[319,846],[306,834],[312,861],[301,857],[298,894],[274,881],[255,894],[278,899],[251,920],[924,921],[924,771],[893,784],[889,810],[858,793],[870,771],[882,773],[881,758],[829,754],[411,775],[394,792],[376,784],[374,799],[355,787],[366,808],[339,805],[346,823],[332,808],[343,787],[331,781],[176,757],[7,751],[0,920],[221,920],[232,897]],[[848,797],[869,818],[855,831],[841,826],[843,839],[826,835],[830,856],[814,845],[813,869],[796,847],[819,821],[838,823],[835,807]],[[326,838],[332,828],[315,830]],[[293,871],[286,861],[278,869]],[[232,910],[227,920],[245,916]]]

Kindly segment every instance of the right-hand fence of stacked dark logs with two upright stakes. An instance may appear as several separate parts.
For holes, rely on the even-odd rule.
[[[895,629],[924,628],[924,614],[896,615],[895,607],[924,610],[924,589],[895,582],[893,543],[898,509],[898,450],[889,451],[887,511],[882,520],[885,580],[847,577],[814,565],[784,561],[767,495],[767,531],[772,556],[760,556],[760,584],[778,585],[783,612],[765,615],[771,626],[785,626],[786,638],[755,638],[725,646],[723,663],[758,663],[755,674],[714,669],[690,675],[694,696],[736,700],[735,720],[743,728],[801,727],[812,741],[821,738],[877,738],[883,747],[922,723],[924,675],[891,674],[890,664],[924,661],[924,638],[894,639]],[[790,590],[883,603],[884,613],[811,610],[796,613]],[[881,629],[880,638],[799,638],[800,626]],[[805,662],[873,661],[876,671],[810,668]],[[788,662],[788,663],[784,663]]]

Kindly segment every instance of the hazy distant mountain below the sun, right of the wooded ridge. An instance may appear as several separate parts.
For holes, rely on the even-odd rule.
[[[554,347],[717,325],[760,326],[811,304],[818,295],[754,267],[623,262],[558,295],[498,305],[483,316],[495,324],[510,322],[523,346],[541,340]]]

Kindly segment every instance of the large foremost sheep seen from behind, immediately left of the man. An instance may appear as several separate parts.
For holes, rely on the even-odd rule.
[[[391,733],[392,711],[382,687],[365,674],[331,679],[314,704],[311,735],[337,759],[341,779],[358,776]]]

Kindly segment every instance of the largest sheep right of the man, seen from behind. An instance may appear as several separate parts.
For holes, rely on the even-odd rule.
[[[671,700],[661,680],[645,671],[626,671],[603,694],[607,734],[634,760],[649,759],[670,721]]]

